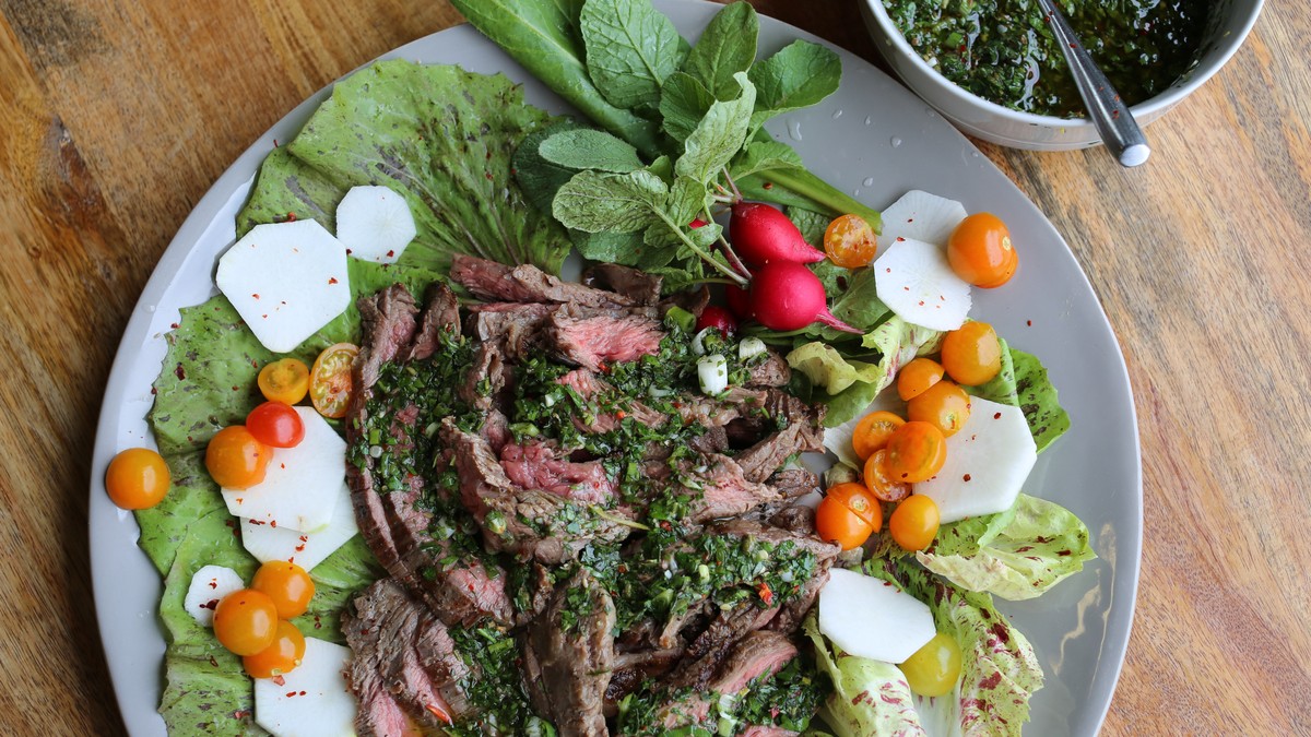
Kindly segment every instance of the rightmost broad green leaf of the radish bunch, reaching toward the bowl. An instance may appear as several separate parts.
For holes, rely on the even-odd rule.
[[[842,81],[842,60],[831,49],[794,41],[747,72],[758,96],[751,127],[829,97]]]

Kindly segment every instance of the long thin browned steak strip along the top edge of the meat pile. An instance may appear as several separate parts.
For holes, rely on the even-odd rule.
[[[451,278],[489,302],[553,302],[585,307],[629,307],[633,299],[612,291],[564,282],[536,266],[507,266],[475,256],[455,254]]]

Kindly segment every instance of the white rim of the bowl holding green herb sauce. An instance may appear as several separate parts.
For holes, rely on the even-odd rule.
[[[901,31],[899,28],[897,28],[897,24],[894,24],[891,17],[888,14],[888,9],[884,7],[884,0],[864,0],[864,3],[869,8],[869,12],[873,14],[876,22],[878,24],[880,30],[882,30],[884,35],[886,35],[889,41],[893,43],[893,46],[897,47],[897,51],[903,58],[909,59],[915,68],[918,68],[922,72],[928,72],[928,77],[932,80],[932,84],[937,89],[941,89],[943,92],[953,97],[956,101],[966,105],[975,105],[982,108],[990,114],[1002,115],[1013,122],[1027,123],[1030,126],[1061,127],[1071,131],[1095,127],[1092,121],[1089,121],[1087,117],[1058,118],[1055,115],[1038,115],[1037,113],[1025,113],[1021,110],[1007,108],[1004,105],[999,105],[996,102],[992,102],[991,100],[979,97],[978,94],[966,90],[954,81],[949,80],[945,75],[943,75],[943,72],[937,71],[937,68],[929,66],[929,63],[926,62],[924,58],[920,56],[914,47],[911,47],[910,42],[906,41],[906,35]],[[1265,7],[1265,0],[1255,0],[1252,12],[1243,22],[1243,28],[1238,33],[1228,34],[1228,37],[1224,38],[1222,45],[1217,45],[1217,47],[1221,49],[1221,52],[1217,56],[1214,56],[1211,62],[1209,62],[1209,67],[1205,71],[1192,76],[1185,84],[1172,84],[1160,94],[1150,97],[1137,105],[1131,105],[1129,108],[1129,111],[1135,118],[1150,121],[1154,119],[1155,117],[1159,117],[1160,114],[1164,114],[1167,110],[1177,105],[1183,98],[1192,94],[1197,88],[1205,84],[1206,80],[1211,79],[1211,76],[1219,72],[1221,68],[1223,68],[1224,64],[1227,64],[1228,60],[1234,56],[1234,54],[1238,52],[1238,50],[1243,46],[1243,42],[1247,41],[1247,37],[1252,31],[1252,28],[1256,25],[1256,20],[1261,16],[1261,9],[1264,7]],[[884,52],[882,47],[880,47],[880,52]],[[891,59],[889,59],[889,63],[891,63]],[[1194,66],[1190,71],[1197,71],[1197,68],[1198,67]],[[1186,73],[1189,72],[1185,72],[1185,75]],[[906,83],[907,85],[910,85],[909,81]],[[920,97],[924,96],[920,94]],[[926,98],[926,101],[933,104],[928,98]],[[933,104],[933,106],[939,108],[937,104]]]

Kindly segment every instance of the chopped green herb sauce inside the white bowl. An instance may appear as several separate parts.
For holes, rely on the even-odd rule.
[[[1192,66],[1201,0],[1058,0],[1121,97],[1148,100]],[[1083,102],[1037,0],[884,0],[906,41],[947,79],[1025,113],[1074,118]]]

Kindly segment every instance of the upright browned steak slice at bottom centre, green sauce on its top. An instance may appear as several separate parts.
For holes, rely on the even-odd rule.
[[[579,569],[524,632],[523,674],[539,715],[561,737],[607,737],[606,687],[615,667],[615,605]]]

